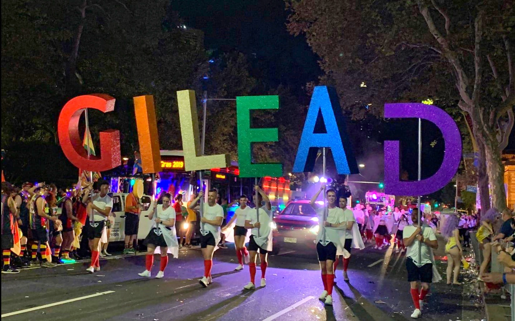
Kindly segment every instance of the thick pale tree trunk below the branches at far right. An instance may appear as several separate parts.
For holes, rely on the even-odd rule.
[[[487,161],[488,180],[492,188],[492,207],[499,211],[507,208],[506,191],[504,190],[504,165],[499,150],[499,142],[495,135],[484,137],[485,155]]]

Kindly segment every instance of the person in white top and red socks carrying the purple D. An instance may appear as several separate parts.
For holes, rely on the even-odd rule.
[[[421,226],[418,221],[418,209],[411,213],[413,225],[404,228],[403,238],[407,248],[406,270],[408,272],[408,282],[411,289],[411,298],[415,305],[415,311],[411,314],[412,318],[422,315],[422,301],[429,292],[429,286],[433,281],[433,263],[431,249],[438,249],[438,241],[433,229]],[[419,247],[421,247],[419,256]],[[419,294],[418,281],[421,282],[422,289]]]

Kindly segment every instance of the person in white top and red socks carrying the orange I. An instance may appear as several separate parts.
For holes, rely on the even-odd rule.
[[[163,197],[163,204],[154,203],[154,210],[148,215],[148,219],[154,219],[154,225],[143,244],[147,246],[147,256],[145,260],[145,271],[138,273],[139,276],[150,277],[154,262],[154,252],[160,248],[161,266],[156,278],[164,276],[164,269],[168,264],[168,251],[175,258],[179,256],[179,243],[177,242],[177,232],[174,228],[175,210],[170,206],[171,195],[166,193]],[[155,217],[155,218],[154,218]]]

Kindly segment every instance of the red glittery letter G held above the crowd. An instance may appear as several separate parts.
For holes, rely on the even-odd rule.
[[[120,154],[120,133],[108,129],[100,131],[100,157],[91,155],[82,146],[79,135],[79,119],[85,108],[101,112],[114,109],[114,98],[103,94],[78,96],[68,101],[59,115],[57,130],[64,155],[75,166],[84,171],[103,172],[122,164]]]

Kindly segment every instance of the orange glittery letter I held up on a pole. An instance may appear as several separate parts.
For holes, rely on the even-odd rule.
[[[154,97],[138,96],[133,99],[143,173],[160,172],[161,154],[159,151],[158,123],[156,121]]]

